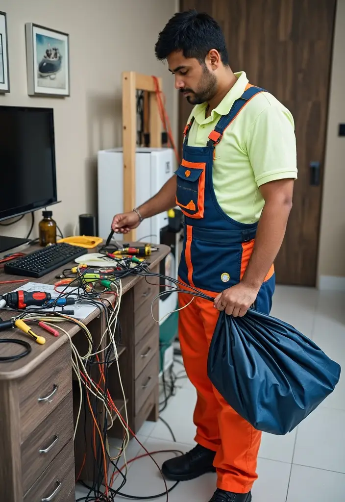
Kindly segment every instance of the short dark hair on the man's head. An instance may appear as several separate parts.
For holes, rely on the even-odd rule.
[[[198,13],[195,9],[178,12],[159,33],[155,54],[163,61],[169,54],[182,51],[186,58],[196,58],[205,64],[211,49],[216,49],[222,62],[229,66],[228,51],[219,24],[208,14]]]

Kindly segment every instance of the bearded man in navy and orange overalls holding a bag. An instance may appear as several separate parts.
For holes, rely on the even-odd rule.
[[[250,86],[244,72],[233,73],[222,31],[206,14],[176,14],[159,34],[155,53],[196,105],[185,129],[183,162],[152,199],[116,215],[112,228],[126,233],[178,204],[185,214],[180,280],[187,290],[215,298],[212,304],[193,299],[193,292],[180,294],[180,307],[187,307],[180,311],[179,338],[198,394],[197,446],[166,461],[162,471],[183,481],[216,470],[210,502],[250,502],[261,433],[212,387],[207,355],[219,311],[270,311],[272,264],[297,177],[293,118],[271,94]]]

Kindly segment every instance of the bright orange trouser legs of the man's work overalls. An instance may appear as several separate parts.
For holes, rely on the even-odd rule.
[[[179,307],[187,305],[192,298],[189,293],[180,293]],[[198,395],[194,412],[195,440],[216,452],[218,488],[247,493],[257,479],[261,432],[225,402],[207,376],[208,351],[218,316],[219,311],[211,301],[198,297],[179,312],[181,351],[188,377]]]

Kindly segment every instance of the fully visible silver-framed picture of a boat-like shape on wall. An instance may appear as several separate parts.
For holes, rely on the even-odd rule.
[[[69,36],[26,23],[29,96],[69,96]]]

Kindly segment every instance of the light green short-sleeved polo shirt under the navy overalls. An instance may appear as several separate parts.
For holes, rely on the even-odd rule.
[[[194,107],[188,145],[204,147],[221,115],[229,113],[246,85],[244,72],[220,104],[205,118],[207,103]],[[225,130],[216,146],[213,186],[218,203],[231,218],[254,223],[264,199],[259,187],[270,181],[297,178],[296,140],[291,113],[272,94],[254,96]]]

